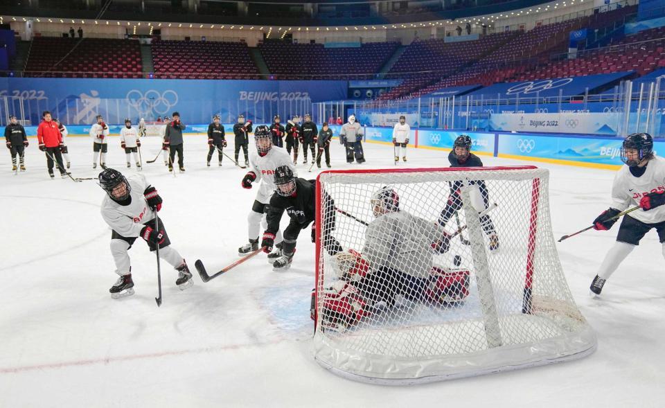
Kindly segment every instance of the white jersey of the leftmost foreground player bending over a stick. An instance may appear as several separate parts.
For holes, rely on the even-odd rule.
[[[143,224],[154,218],[154,211],[150,209],[143,196],[145,188],[148,187],[145,177],[141,174],[131,175],[127,177],[127,181],[132,189],[130,191],[132,202],[123,206],[106,195],[102,202],[101,213],[102,218],[114,231],[123,237],[135,238],[141,235]]]

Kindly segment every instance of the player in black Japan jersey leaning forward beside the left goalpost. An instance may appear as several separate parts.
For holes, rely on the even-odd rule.
[[[267,213],[268,227],[263,233],[261,247],[268,254],[272,251],[275,234],[279,230],[279,221],[286,211],[291,221],[284,230],[282,257],[272,264],[274,269],[284,270],[291,267],[300,231],[314,221],[317,181],[295,178],[289,166],[279,166],[275,169],[274,174],[277,189],[270,199],[270,208]],[[332,237],[332,231],[335,230],[335,202],[325,191],[322,199],[326,218],[323,220],[324,227],[321,230],[321,244],[326,248],[328,254],[335,255],[343,251],[339,242]],[[316,236],[317,227],[312,224],[312,242],[316,242]]]

